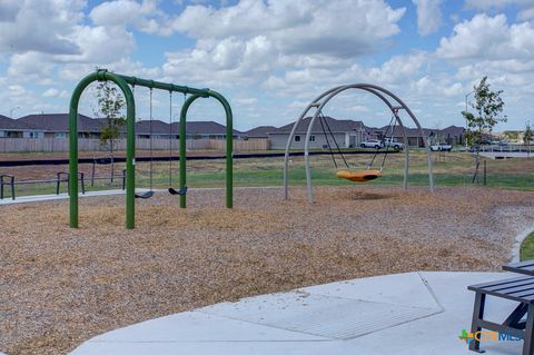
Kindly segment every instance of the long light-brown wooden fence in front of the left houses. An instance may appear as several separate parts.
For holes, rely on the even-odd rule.
[[[212,149],[225,151],[226,140],[224,139],[187,139],[188,150]],[[154,138],[151,141],[155,150],[178,150],[179,140],[169,141],[166,138]],[[150,139],[136,139],[136,149],[150,149]],[[235,151],[247,150],[267,150],[269,142],[267,139],[234,140]],[[22,151],[68,151],[69,140],[67,138],[0,138],[0,152],[22,152]],[[108,147],[103,146],[100,139],[80,138],[78,139],[78,150],[80,151],[106,151]],[[126,139],[115,141],[115,150],[126,150]]]

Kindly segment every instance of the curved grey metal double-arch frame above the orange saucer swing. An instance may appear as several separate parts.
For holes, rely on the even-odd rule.
[[[405,159],[405,180],[404,180],[404,186],[407,187],[407,171],[408,171],[408,154],[407,154],[407,137],[406,137],[406,132],[405,132],[405,129],[404,129],[404,125],[400,120],[400,118],[398,117],[398,115],[396,115],[395,110],[397,108],[388,105],[388,100],[379,92],[383,92],[387,96],[389,96],[390,98],[393,98],[398,105],[400,105],[400,107],[403,109],[406,110],[406,112],[408,114],[408,116],[412,118],[412,120],[414,121],[414,124],[417,126],[417,128],[419,129],[419,134],[423,138],[423,142],[425,145],[425,148],[427,150],[427,162],[428,162],[428,178],[429,178],[429,187],[431,187],[431,191],[434,191],[434,178],[433,178],[433,175],[432,175],[432,159],[431,159],[431,150],[429,150],[429,146],[428,146],[428,142],[427,142],[427,139],[424,135],[424,131],[423,131],[423,128],[421,127],[417,118],[415,117],[415,115],[412,112],[412,110],[406,106],[406,103],[404,103],[397,96],[395,96],[393,92],[384,89],[384,88],[380,88],[378,86],[375,86],[375,85],[369,85],[369,83],[356,83],[356,85],[346,85],[346,86],[338,86],[338,87],[335,87],[333,89],[329,89],[325,92],[323,92],[318,98],[316,98],[313,102],[310,102],[308,105],[308,107],[305,109],[305,111],[303,112],[303,115],[298,118],[298,120],[295,122],[295,126],[291,130],[291,134],[289,136],[289,139],[288,139],[288,142],[287,142],[287,147],[286,147],[286,155],[285,155],[285,164],[284,164],[284,185],[285,185],[285,198],[287,199],[288,198],[288,181],[287,181],[287,169],[288,169],[288,164],[287,164],[287,160],[288,160],[288,150],[289,150],[289,147],[290,147],[290,144],[293,141],[293,136],[295,134],[295,130],[296,130],[296,127],[298,125],[298,122],[300,122],[300,120],[304,118],[304,116],[309,111],[309,109],[312,107],[317,107],[316,111],[315,111],[315,115],[313,116],[313,118],[310,119],[310,122],[308,125],[308,129],[307,129],[307,134],[306,134],[306,141],[305,141],[305,151],[304,151],[304,157],[305,157],[305,168],[306,168],[306,183],[307,183],[307,190],[308,190],[308,200],[309,203],[313,203],[313,191],[312,191],[312,175],[310,175],[310,170],[309,170],[309,137],[310,137],[310,132],[312,132],[312,127],[315,122],[315,119],[317,118],[317,115],[318,112],[323,109],[323,107],[332,99],[334,98],[336,95],[338,95],[339,92],[343,92],[345,90],[348,90],[348,89],[362,89],[362,90],[366,90],[370,93],[374,93],[375,96],[377,96],[378,98],[380,98],[388,107],[389,109],[392,109],[392,111],[394,112],[395,115],[395,118],[397,120],[397,122],[399,124],[399,126],[402,126],[403,128],[403,132],[404,132],[404,140],[405,140],[405,145],[406,145],[406,159]],[[318,102],[320,99],[323,99],[323,101],[320,101],[320,103]]]

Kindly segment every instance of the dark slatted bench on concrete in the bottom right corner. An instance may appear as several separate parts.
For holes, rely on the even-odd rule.
[[[534,354],[534,277],[521,276],[478,284],[467,287],[474,290],[475,306],[471,333],[474,338],[469,342],[469,349],[481,351],[481,332],[488,329],[498,334],[514,336],[523,339],[523,355]],[[517,307],[503,323],[494,323],[484,319],[484,306],[486,296],[506,298],[518,303]],[[526,321],[523,321],[526,315]]]

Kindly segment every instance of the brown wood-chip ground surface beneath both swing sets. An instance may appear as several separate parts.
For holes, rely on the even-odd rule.
[[[412,270],[498,270],[534,194],[354,186],[156,195],[123,228],[123,197],[1,206],[0,352],[66,354],[97,334],[222,300]]]

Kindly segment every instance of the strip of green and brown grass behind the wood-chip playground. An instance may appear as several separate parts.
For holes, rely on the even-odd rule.
[[[365,169],[372,159],[368,155],[348,155],[346,158],[352,169]],[[382,156],[377,156],[375,167],[382,164]],[[333,159],[327,156],[312,156],[312,171],[314,185],[316,186],[343,186],[355,183],[338,179]],[[337,157],[338,164],[343,167],[340,157]],[[261,187],[280,186],[283,184],[283,158],[254,158],[234,160],[234,185],[236,187]],[[471,185],[474,171],[474,158],[467,152],[451,152],[445,155],[433,154],[433,171],[437,186],[462,186]],[[123,164],[117,164],[117,174],[121,171]],[[57,171],[67,171],[67,166],[37,166],[37,167],[16,167],[0,168],[0,174],[10,174],[18,179],[40,179],[52,178]],[[506,160],[486,160],[486,186],[534,190],[534,159],[506,159]],[[80,171],[86,172],[86,180],[90,177],[91,166],[80,165]],[[178,185],[178,161],[172,161],[172,186]],[[110,167],[98,167],[97,175],[100,177],[109,176]],[[398,185],[403,181],[404,174],[404,154],[390,154],[387,156],[384,166],[384,177],[368,185]],[[138,187],[149,187],[149,164],[138,162],[137,181]],[[188,161],[187,185],[189,187],[222,187],[225,185],[225,160],[190,160]],[[120,186],[120,178],[115,184],[109,180],[99,180],[91,188],[86,183],[88,189],[117,188]],[[483,184],[483,169],[478,184]],[[304,158],[294,157],[290,160],[289,184],[293,186],[303,186],[306,184],[304,171]],[[421,150],[411,152],[409,184],[414,186],[428,185],[426,154]],[[155,188],[166,188],[169,186],[169,164],[154,162],[152,186]],[[62,190],[66,189],[63,186]],[[55,184],[24,185],[17,187],[17,195],[52,194]]]

